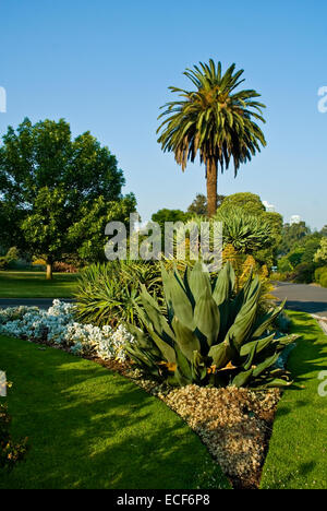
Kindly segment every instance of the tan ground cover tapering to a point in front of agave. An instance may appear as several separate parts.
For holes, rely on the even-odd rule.
[[[131,378],[179,414],[201,437],[234,488],[258,488],[281,396],[278,389],[256,392],[235,387],[215,389],[187,385],[171,389],[144,379],[128,364],[96,361]]]

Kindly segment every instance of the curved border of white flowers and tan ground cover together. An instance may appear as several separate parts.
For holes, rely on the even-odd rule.
[[[50,344],[118,370],[179,414],[198,433],[234,487],[258,486],[279,390],[253,392],[195,384],[172,389],[149,380],[129,364],[125,346],[134,340],[122,325],[114,330],[78,323],[74,306],[59,300],[53,300],[47,311],[37,307],[0,310],[0,334]]]

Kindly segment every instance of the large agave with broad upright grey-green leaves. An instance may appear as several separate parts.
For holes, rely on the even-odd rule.
[[[280,338],[269,330],[283,308],[258,313],[261,282],[250,275],[234,293],[235,275],[227,263],[213,282],[201,262],[181,275],[161,268],[167,314],[142,286],[136,306],[146,332],[133,324],[132,360],[169,384],[283,387],[288,375],[276,367],[295,335]]]

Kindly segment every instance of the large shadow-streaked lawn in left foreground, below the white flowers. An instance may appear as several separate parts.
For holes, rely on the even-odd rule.
[[[159,400],[64,352],[0,337],[0,368],[26,461],[0,488],[229,487],[198,437]]]

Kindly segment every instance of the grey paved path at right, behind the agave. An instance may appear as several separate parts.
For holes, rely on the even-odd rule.
[[[312,284],[276,282],[272,292],[278,299],[287,298],[287,308],[327,318],[327,288]]]

